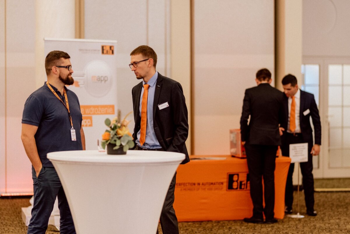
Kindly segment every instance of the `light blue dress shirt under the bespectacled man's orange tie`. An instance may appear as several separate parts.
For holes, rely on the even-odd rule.
[[[155,84],[157,82],[158,78],[158,71],[155,72],[155,74],[149,79],[149,81],[146,83],[145,81],[142,82],[142,90],[141,90],[141,97],[140,97],[140,116],[141,116],[141,106],[142,106],[142,96],[144,95],[144,84],[149,84],[148,87],[148,98],[147,98],[147,127],[146,127],[146,140],[144,145],[142,145],[142,148],[147,149],[160,149],[162,146],[160,146],[157,137],[154,133],[153,128],[153,100],[154,100],[154,92],[155,92]],[[137,133],[137,140],[136,144],[140,146],[140,135],[141,130]]]

